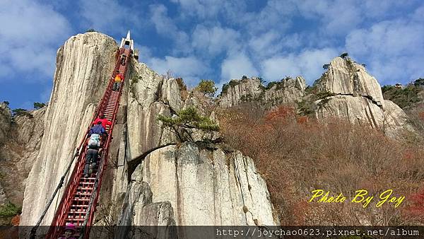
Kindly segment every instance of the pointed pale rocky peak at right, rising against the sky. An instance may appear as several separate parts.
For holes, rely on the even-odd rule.
[[[363,96],[376,105],[384,105],[381,86],[377,79],[368,74],[363,65],[353,62],[350,58],[335,57],[331,60],[328,70],[315,85],[319,91],[336,95]]]

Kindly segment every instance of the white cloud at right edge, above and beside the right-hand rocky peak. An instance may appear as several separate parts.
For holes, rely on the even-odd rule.
[[[346,37],[346,49],[380,82],[396,83],[424,75],[423,39],[423,23],[396,19],[353,30]]]

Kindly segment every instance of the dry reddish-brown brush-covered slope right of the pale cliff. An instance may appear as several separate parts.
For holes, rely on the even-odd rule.
[[[322,124],[285,106],[266,112],[241,105],[218,117],[226,143],[254,158],[282,225],[424,223],[417,206],[424,203],[423,148],[341,119]],[[315,189],[343,192],[346,202],[307,202]],[[362,189],[376,196],[365,209],[350,202]],[[404,203],[376,208],[379,194],[389,189],[405,196]]]

